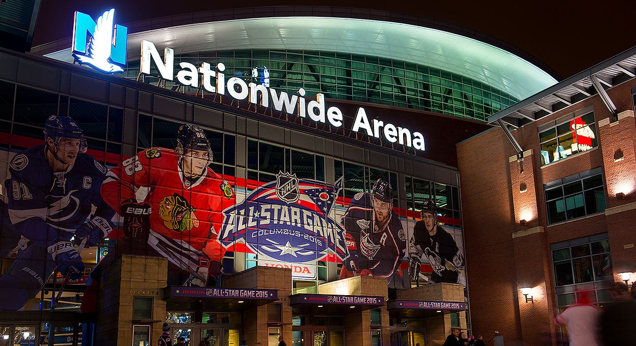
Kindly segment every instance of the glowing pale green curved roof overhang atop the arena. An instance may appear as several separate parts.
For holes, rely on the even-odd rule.
[[[477,39],[417,25],[335,17],[270,17],[190,23],[128,34],[128,60],[141,40],[176,54],[234,49],[338,51],[392,58],[466,76],[516,98],[556,79],[527,60]],[[46,57],[72,62],[70,48]],[[214,62],[211,62],[214,63]]]

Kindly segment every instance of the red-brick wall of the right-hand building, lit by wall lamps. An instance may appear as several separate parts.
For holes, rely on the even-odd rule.
[[[499,331],[504,334],[506,345],[556,343],[550,244],[607,232],[616,279],[618,272],[636,271],[636,239],[631,226],[636,222],[636,123],[630,95],[634,86],[636,79],[630,79],[607,90],[621,114],[616,122],[595,95],[513,130],[513,136],[526,150],[523,161],[517,160],[517,153],[500,128],[457,145],[475,334],[488,339],[488,335]],[[598,147],[542,167],[537,154],[541,150],[539,126],[586,108],[594,111]],[[623,152],[623,159],[614,162],[618,149]],[[607,210],[548,225],[544,184],[597,167],[603,168],[607,179]],[[526,192],[520,192],[521,183],[527,185]],[[616,198],[619,189],[628,191],[625,199]],[[528,221],[526,225],[520,225],[522,218]],[[526,285],[541,297],[535,298],[534,304],[525,303],[518,291]],[[533,329],[549,334],[533,333]]]

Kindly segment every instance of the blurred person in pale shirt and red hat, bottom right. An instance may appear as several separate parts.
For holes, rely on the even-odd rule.
[[[567,328],[571,346],[598,346],[598,316],[601,310],[590,303],[587,291],[576,292],[576,303],[556,316],[555,323]]]

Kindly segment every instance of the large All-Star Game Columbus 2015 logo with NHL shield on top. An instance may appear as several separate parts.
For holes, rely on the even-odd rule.
[[[223,211],[219,240],[228,251],[244,245],[258,254],[259,262],[315,266],[328,258],[342,261],[349,255],[345,230],[329,217],[342,182],[340,178],[327,185],[280,173],[275,182],[253,190],[244,203]],[[307,272],[294,277],[308,278]]]

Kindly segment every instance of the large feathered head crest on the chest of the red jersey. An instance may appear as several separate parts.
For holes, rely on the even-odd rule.
[[[163,220],[165,227],[179,232],[191,230],[199,225],[195,208],[192,208],[190,203],[177,193],[165,196],[159,202],[159,217]]]

